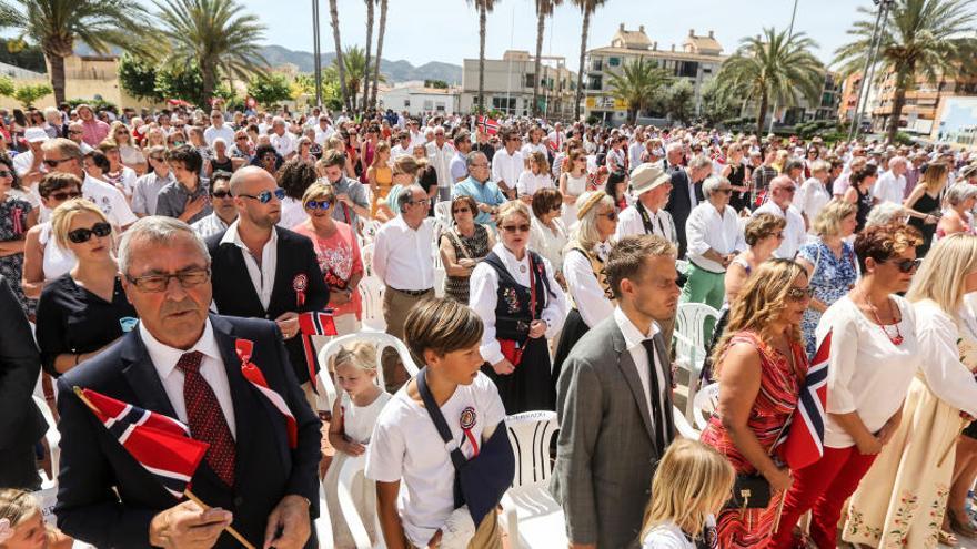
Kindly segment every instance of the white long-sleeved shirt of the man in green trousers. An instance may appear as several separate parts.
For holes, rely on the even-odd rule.
[[[719,263],[705,257],[709,248],[722,255],[746,250],[743,232],[736,211],[726,206],[721,215],[712,202],[705,201],[692,209],[685,221],[685,237],[688,242],[686,255],[698,267],[712,273],[724,273]]]

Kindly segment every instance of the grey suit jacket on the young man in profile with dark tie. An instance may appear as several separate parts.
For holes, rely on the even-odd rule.
[[[611,345],[607,345],[610,342]],[[665,387],[672,372],[662,334],[655,336]],[[653,363],[654,365],[654,363]],[[666,414],[672,413],[665,390]],[[574,345],[556,386],[560,434],[550,491],[563,507],[571,542],[601,549],[637,548],[652,474],[665,448],[655,447],[655,425],[644,387],[614,316]]]

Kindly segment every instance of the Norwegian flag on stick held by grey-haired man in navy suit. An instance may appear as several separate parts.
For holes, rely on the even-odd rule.
[[[91,389],[74,393],[102,421],[119,444],[174,498],[182,498],[208,444],[190,438],[182,423],[125,404]]]

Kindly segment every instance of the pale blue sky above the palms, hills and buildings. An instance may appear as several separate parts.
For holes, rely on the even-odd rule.
[[[143,0],[141,0],[143,1]],[[144,0],[145,3],[151,3]],[[312,0],[240,0],[268,26],[266,41],[292,50],[312,51]],[[795,30],[814,38],[816,52],[830,61],[845,32],[858,16],[858,6],[870,0],[798,0]],[[622,22],[629,29],[645,26],[658,48],[676,45],[694,28],[696,34],[714,30],[725,53],[736,49],[739,39],[757,34],[764,27],[786,29],[793,0],[607,0],[591,18],[588,48],[607,45]],[[379,9],[376,10],[379,24]],[[322,48],[333,50],[329,0],[320,0]],[[343,44],[366,42],[366,8],[362,0],[339,0],[340,33]],[[580,55],[581,14],[568,1],[547,20],[544,54],[564,55],[575,69]],[[536,18],[532,0],[501,0],[487,19],[486,58],[501,58],[510,49],[533,51]],[[374,33],[375,41],[375,33]],[[404,59],[417,65],[427,61],[461,64],[479,57],[479,17],[465,0],[389,0],[387,30],[383,57]]]

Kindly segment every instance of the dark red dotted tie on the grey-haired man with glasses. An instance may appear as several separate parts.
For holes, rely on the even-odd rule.
[[[234,438],[224,419],[224,413],[216,395],[207,379],[200,375],[203,354],[199,350],[184,353],[177,362],[183,373],[183,399],[187,404],[187,418],[193,438],[208,443],[207,462],[228,486],[234,486]]]

